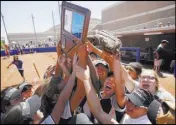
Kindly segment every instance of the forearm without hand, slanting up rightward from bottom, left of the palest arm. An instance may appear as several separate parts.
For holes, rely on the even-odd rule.
[[[73,72],[68,80],[68,83],[66,84],[66,86],[62,90],[62,92],[57,100],[57,103],[51,113],[51,116],[56,124],[59,123],[60,117],[64,112],[65,105],[66,105],[67,101],[69,100],[69,97],[70,97],[71,92],[73,90],[74,81],[75,81],[75,73]]]

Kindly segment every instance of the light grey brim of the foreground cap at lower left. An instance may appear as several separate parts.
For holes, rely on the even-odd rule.
[[[27,103],[29,103],[30,106],[30,115],[31,117],[38,111],[38,109],[41,106],[41,99],[37,95],[33,95],[30,98],[26,100]]]

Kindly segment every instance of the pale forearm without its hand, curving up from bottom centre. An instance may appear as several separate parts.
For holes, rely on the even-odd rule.
[[[96,96],[95,89],[91,83],[91,80],[85,80],[84,82],[85,93],[90,107],[91,112],[94,117],[102,124],[117,124],[117,122],[106,114],[100,104],[100,100]]]

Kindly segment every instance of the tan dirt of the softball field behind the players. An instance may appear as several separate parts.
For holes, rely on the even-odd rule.
[[[23,61],[26,81],[32,84],[37,84],[39,83],[37,81],[43,80],[43,75],[47,67],[56,63],[57,54],[52,52],[19,55],[19,59]],[[7,86],[20,84],[23,81],[16,66],[12,65],[9,69],[6,68],[12,60],[12,56],[10,59],[5,60],[1,57],[1,90]],[[33,62],[39,71],[40,79],[35,71]],[[160,78],[160,86],[175,96],[175,77],[173,75],[166,75],[165,78]]]

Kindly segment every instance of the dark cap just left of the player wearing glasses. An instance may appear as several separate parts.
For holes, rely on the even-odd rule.
[[[137,75],[140,75],[142,72],[142,65],[139,62],[131,62],[127,66],[130,66]]]

